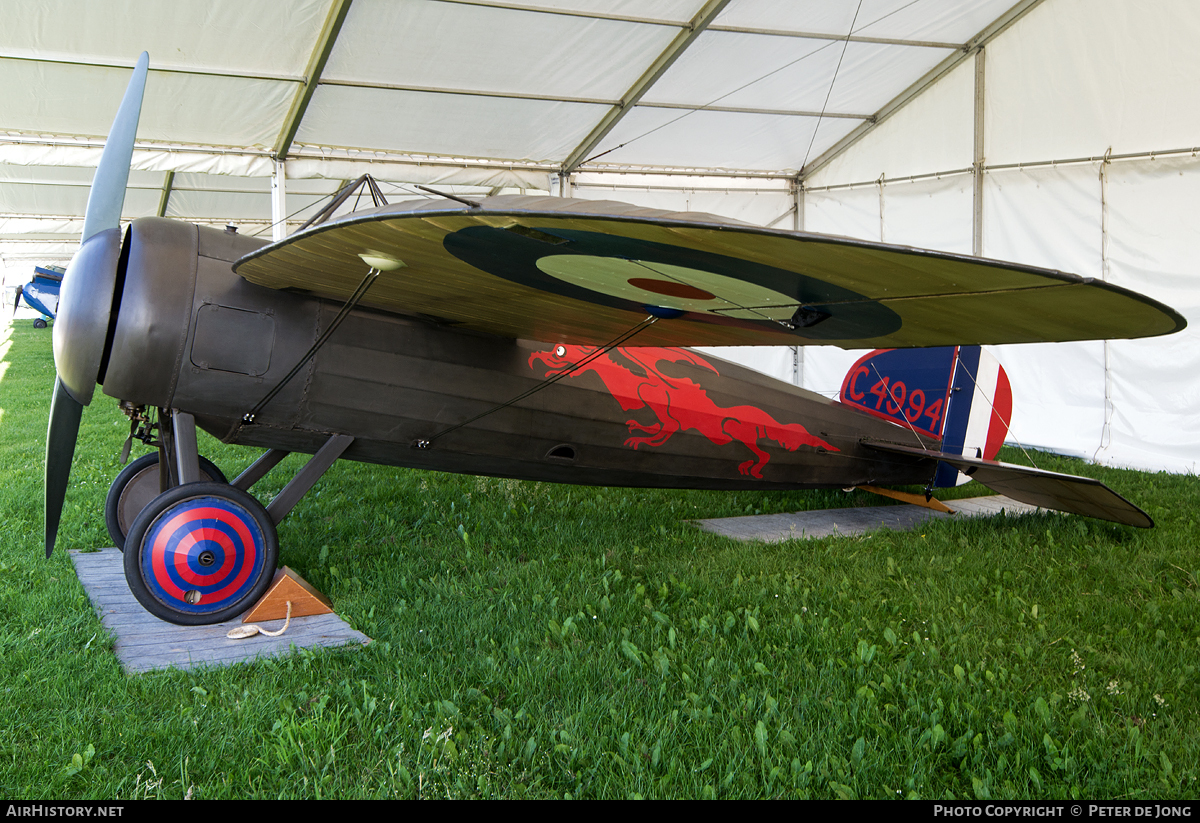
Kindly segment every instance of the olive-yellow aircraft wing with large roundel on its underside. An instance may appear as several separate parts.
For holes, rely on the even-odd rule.
[[[601,200],[418,200],[244,257],[252,283],[510,338],[908,348],[1166,335],[1174,310],[1076,275]],[[383,268],[383,266],[380,266]]]

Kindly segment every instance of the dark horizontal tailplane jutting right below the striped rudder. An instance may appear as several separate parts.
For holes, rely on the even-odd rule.
[[[919,459],[936,459],[948,463],[995,492],[1043,509],[1097,517],[1142,529],[1154,525],[1150,515],[1092,477],[1043,471],[1042,469],[964,457],[942,451],[926,451],[917,446],[895,443],[864,440],[863,445],[893,455],[908,455]]]

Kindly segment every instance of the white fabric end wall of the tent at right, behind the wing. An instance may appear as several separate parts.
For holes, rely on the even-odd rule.
[[[1200,464],[1200,158],[1178,151],[1200,144],[1200,115],[1183,104],[1196,35],[1189,4],[1050,0],[986,47],[984,256],[1105,280],[1190,324],[1164,338],[996,347],[1013,441],[1141,469]],[[968,61],[809,178],[805,228],[970,253],[973,77]],[[1106,162],[1110,150],[1133,156]],[[856,356],[808,349],[803,384],[836,391]]]

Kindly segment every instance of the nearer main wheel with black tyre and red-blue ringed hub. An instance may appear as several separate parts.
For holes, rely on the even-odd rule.
[[[275,575],[278,539],[258,500],[223,483],[187,483],[150,501],[125,540],[125,579],[146,611],[198,626],[238,617]]]

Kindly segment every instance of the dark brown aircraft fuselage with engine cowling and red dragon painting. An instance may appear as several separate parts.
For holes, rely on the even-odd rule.
[[[514,341],[362,308],[262,404],[342,305],[242,280],[232,263],[263,244],[232,232],[144,218],[126,244],[104,394],[188,412],[227,443],[312,453],[342,433],[348,459],[582,485],[930,479],[928,462],[860,445],[914,432],[691,349]]]

